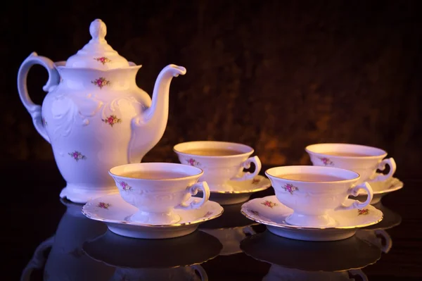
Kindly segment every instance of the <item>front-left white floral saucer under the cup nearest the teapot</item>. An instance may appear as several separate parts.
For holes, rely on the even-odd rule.
[[[111,232],[141,239],[166,239],[188,235],[195,231],[200,223],[221,216],[223,208],[213,201],[207,201],[201,208],[193,210],[175,208],[174,213],[177,213],[181,220],[172,225],[148,225],[129,220],[136,211],[138,208],[124,201],[120,194],[91,200],[82,208],[82,213],[87,218],[106,223]]]

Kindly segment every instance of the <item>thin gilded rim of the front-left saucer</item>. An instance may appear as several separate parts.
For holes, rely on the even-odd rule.
[[[89,203],[93,204],[94,201],[98,201],[98,200],[101,200],[101,199],[103,200],[103,199],[106,199],[106,198],[109,198],[109,197],[117,197],[117,196],[120,196],[120,194],[111,194],[111,195],[107,195],[107,196],[95,198],[95,199],[92,199],[92,200],[88,201],[87,204],[89,204]],[[124,204],[129,205],[127,202],[125,202],[125,201],[123,201],[123,202],[124,202]],[[173,223],[173,224],[170,224],[170,225],[152,225],[152,224],[148,224],[148,223],[131,222],[131,221],[128,221],[128,220],[111,220],[111,219],[108,219],[108,218],[99,218],[99,217],[96,217],[96,216],[91,216],[89,214],[91,212],[88,212],[86,210],[87,204],[85,204],[82,207],[82,214],[84,214],[84,216],[86,216],[87,218],[89,218],[91,220],[97,220],[97,221],[101,221],[103,223],[117,223],[119,225],[132,225],[132,226],[135,226],[135,227],[153,227],[153,228],[183,227],[183,226],[187,226],[187,225],[199,225],[200,223],[205,223],[208,220],[213,220],[215,218],[218,218],[219,216],[222,216],[222,214],[224,213],[224,208],[220,204],[218,204],[217,202],[215,202],[215,201],[208,200],[208,202],[210,202],[211,204],[216,204],[215,206],[216,207],[219,207],[219,208],[217,208],[217,210],[220,209],[219,213],[215,214],[214,216],[209,216],[207,218],[202,218],[200,220],[193,220],[193,221],[189,221],[189,222],[186,222],[186,223]],[[195,209],[193,209],[193,210],[179,209],[179,210],[186,212],[186,211],[194,211]]]

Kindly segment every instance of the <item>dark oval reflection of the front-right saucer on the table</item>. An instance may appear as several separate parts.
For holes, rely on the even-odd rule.
[[[259,261],[307,271],[359,269],[381,258],[378,247],[357,237],[335,242],[305,242],[279,237],[268,230],[243,239],[241,249]]]

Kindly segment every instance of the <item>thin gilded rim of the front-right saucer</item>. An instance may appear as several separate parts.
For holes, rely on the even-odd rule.
[[[257,222],[257,223],[261,223],[263,225],[271,225],[271,226],[274,226],[274,227],[282,227],[282,228],[290,228],[290,229],[293,228],[293,229],[296,229],[296,230],[352,230],[352,229],[357,229],[357,228],[368,227],[368,226],[371,226],[371,225],[376,225],[377,223],[381,222],[381,220],[383,220],[383,218],[384,218],[383,212],[380,211],[380,210],[378,210],[377,208],[375,208],[371,204],[369,204],[365,208],[373,208],[373,209],[375,209],[376,211],[378,211],[381,214],[380,218],[378,220],[376,220],[376,221],[374,220],[372,223],[366,223],[364,225],[354,225],[354,226],[311,227],[311,226],[288,225],[287,223],[281,225],[281,224],[278,224],[278,223],[270,223],[268,221],[259,220],[257,218],[253,218],[252,216],[250,216],[247,213],[245,213],[244,209],[246,209],[247,205],[250,204],[250,202],[255,201],[255,200],[258,200],[258,199],[269,198],[271,196],[275,196],[275,195],[264,196],[264,197],[261,197],[261,198],[255,198],[255,199],[252,199],[252,200],[250,200],[248,202],[245,202],[245,204],[243,204],[242,207],[241,207],[241,213],[246,218],[249,218],[250,220],[253,220],[253,221]],[[279,203],[282,204],[281,202],[279,202]],[[284,204],[282,204],[282,205],[283,206],[286,206]]]

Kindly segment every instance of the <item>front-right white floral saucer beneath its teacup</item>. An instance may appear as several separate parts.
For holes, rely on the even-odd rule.
[[[353,200],[347,199],[346,205]],[[383,219],[383,213],[369,205],[362,210],[330,211],[335,220],[332,227],[307,227],[289,225],[286,218],[293,213],[291,208],[281,204],[276,196],[252,199],[243,204],[241,212],[257,223],[267,225],[269,231],[281,237],[307,241],[335,241],[352,237],[357,228],[374,225]]]

